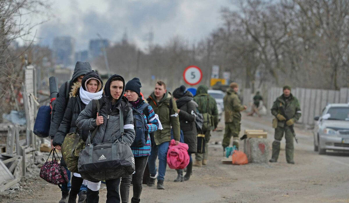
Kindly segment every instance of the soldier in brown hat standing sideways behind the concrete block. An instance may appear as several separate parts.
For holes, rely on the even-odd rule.
[[[224,96],[224,113],[225,113],[225,133],[223,138],[223,150],[229,146],[231,136],[233,136],[233,146],[239,148],[240,133],[240,111],[246,110],[246,106],[242,106],[237,92],[239,86],[237,83],[231,83],[227,89],[227,95]]]

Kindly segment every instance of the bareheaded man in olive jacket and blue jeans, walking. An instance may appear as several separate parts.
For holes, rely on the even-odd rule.
[[[173,130],[173,138],[177,145],[180,139],[180,126],[177,104],[173,100],[171,93],[166,91],[166,85],[163,81],[158,81],[155,85],[154,92],[147,99],[149,105],[153,107],[155,114],[159,116],[159,120],[163,130],[157,130],[154,134],[155,145],[151,148],[148,158],[148,166],[150,180],[148,186],[155,184],[157,177],[157,189],[165,189],[164,179],[167,165],[167,150],[171,140],[171,126]],[[159,170],[156,172],[156,156],[159,157]],[[157,176],[158,175],[158,176]]]

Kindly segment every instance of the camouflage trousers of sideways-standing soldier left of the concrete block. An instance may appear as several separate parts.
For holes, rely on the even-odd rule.
[[[233,137],[233,145],[239,148],[239,133],[240,133],[240,121],[235,120],[231,123],[225,123],[225,133],[222,142],[222,146],[228,147],[230,144],[231,137]]]

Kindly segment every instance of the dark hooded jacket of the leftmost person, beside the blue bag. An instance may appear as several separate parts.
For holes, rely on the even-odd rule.
[[[76,62],[71,84],[73,84],[79,76],[85,75],[91,70],[92,68],[90,63],[88,62],[83,63],[80,61]],[[68,84],[68,85],[71,85],[71,84]],[[71,88],[69,89],[69,92],[70,91],[71,91]],[[65,93],[66,93],[66,86],[64,83],[59,88],[55,104],[52,108],[52,119],[51,119],[50,134],[49,134],[51,136],[51,139],[53,139],[54,135],[57,133],[58,128],[63,120],[63,116],[66,109],[66,104],[67,104]]]

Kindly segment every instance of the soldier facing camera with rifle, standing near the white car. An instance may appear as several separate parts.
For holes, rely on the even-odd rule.
[[[289,120],[286,120],[286,118],[283,115],[281,115],[280,107],[283,107],[285,109],[285,114],[287,115]],[[272,114],[275,116],[273,120],[273,127],[275,128],[275,140],[273,142],[272,158],[269,160],[269,162],[277,162],[277,158],[279,157],[280,152],[280,141],[282,139],[283,134],[285,133],[286,161],[289,164],[294,164],[294,137],[290,127],[293,127],[295,122],[300,118],[300,116],[302,115],[302,111],[300,111],[299,102],[297,98],[291,94],[291,87],[283,87],[283,95],[276,99],[271,110]]]

